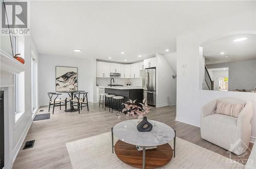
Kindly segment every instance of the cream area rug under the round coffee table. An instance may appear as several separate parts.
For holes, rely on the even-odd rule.
[[[162,168],[244,168],[244,165],[220,154],[176,137],[176,157]],[[115,142],[117,139],[115,140]],[[173,145],[173,143],[169,143]],[[134,168],[112,154],[111,132],[66,143],[74,169]],[[227,163],[227,161],[231,161]]]

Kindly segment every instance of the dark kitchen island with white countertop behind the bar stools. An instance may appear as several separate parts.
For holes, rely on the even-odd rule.
[[[136,100],[135,104],[138,105],[143,101],[143,88],[142,87],[104,87],[105,93],[123,96],[124,101]]]

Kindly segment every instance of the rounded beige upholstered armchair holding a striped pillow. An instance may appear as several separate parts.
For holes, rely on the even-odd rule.
[[[245,103],[245,106],[238,118],[212,114],[216,110],[217,100],[231,104]],[[249,145],[251,117],[252,104],[249,100],[230,97],[213,100],[201,108],[201,137],[234,154],[241,155]]]

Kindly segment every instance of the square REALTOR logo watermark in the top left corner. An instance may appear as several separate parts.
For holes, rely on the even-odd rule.
[[[1,35],[30,35],[30,2],[1,2]]]

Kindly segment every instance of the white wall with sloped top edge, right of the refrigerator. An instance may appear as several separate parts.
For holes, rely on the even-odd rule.
[[[165,56],[156,53],[156,80],[157,80],[157,96],[156,107],[176,104],[176,74],[170,66]]]

